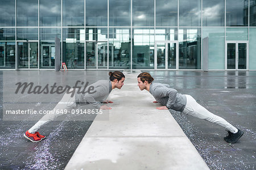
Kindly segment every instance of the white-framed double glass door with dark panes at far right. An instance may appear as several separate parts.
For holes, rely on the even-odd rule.
[[[247,69],[247,42],[233,41],[226,43],[226,69]]]

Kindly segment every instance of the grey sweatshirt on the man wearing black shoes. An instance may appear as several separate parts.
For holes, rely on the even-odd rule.
[[[170,88],[168,84],[151,83],[150,94],[155,100],[162,105],[166,105],[168,109],[182,112],[187,104],[185,95],[178,94],[174,88]]]

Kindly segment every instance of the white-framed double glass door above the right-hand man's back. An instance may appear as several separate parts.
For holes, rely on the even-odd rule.
[[[155,42],[155,69],[177,68],[177,42]]]

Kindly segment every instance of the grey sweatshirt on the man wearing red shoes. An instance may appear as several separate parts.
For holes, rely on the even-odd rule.
[[[90,92],[94,92],[93,94],[89,94],[88,88],[90,86],[94,87],[94,90],[91,90]],[[112,91],[112,84],[110,80],[98,80],[97,82],[90,84],[85,89],[85,94],[77,94],[75,95],[76,103],[80,105],[85,104],[91,104],[93,107],[100,109],[101,104],[103,101],[105,101],[110,92]]]

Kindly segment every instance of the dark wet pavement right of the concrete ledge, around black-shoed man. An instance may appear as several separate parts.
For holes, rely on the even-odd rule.
[[[210,169],[254,169],[256,148],[256,71],[146,71],[155,82],[171,84],[192,95],[210,112],[225,118],[245,134],[238,143],[223,139],[226,131],[171,111]]]

